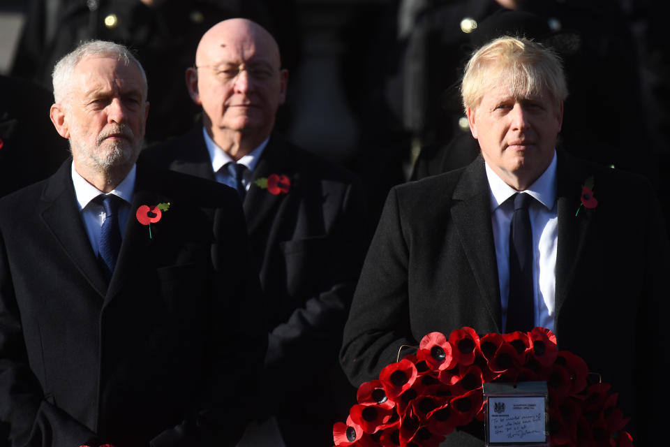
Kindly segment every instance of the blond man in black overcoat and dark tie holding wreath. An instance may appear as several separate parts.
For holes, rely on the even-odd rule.
[[[653,191],[554,149],[567,89],[542,45],[484,45],[462,88],[481,156],[389,193],[345,326],[343,368],[358,385],[429,332],[543,326],[613,384],[634,436],[652,444],[662,411],[641,384],[660,380],[670,268]],[[581,203],[587,183],[595,207]],[[482,446],[481,427],[468,430],[445,446]]]

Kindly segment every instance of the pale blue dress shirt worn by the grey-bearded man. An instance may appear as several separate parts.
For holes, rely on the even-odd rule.
[[[135,191],[135,175],[137,167],[133,165],[131,172],[126,175],[126,178],[119,183],[115,189],[112,189],[110,194],[119,196],[124,199],[124,205],[119,207],[119,229],[121,230],[121,237],[126,233],[126,223],[131,214],[131,200],[133,198],[133,191]],[[105,208],[102,203],[94,200],[100,194],[104,194],[95,186],[84,179],[77,170],[75,170],[75,163],[72,163],[72,182],[75,186],[75,197],[77,198],[77,205],[84,221],[84,228],[89,236],[93,252],[98,256],[98,245],[100,244],[100,233],[103,222],[105,221]]]

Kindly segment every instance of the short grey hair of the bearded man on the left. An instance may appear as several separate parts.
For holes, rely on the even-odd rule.
[[[137,68],[140,68],[140,73],[142,73],[142,86],[144,87],[144,94],[142,96],[144,100],[147,99],[147,73],[144,73],[142,64],[140,64],[140,61],[137,61],[131,50],[128,50],[128,48],[119,43],[88,41],[82,43],[64,57],[61,57],[56,63],[56,66],[54,66],[54,71],[52,73],[54,101],[56,103],[62,103],[68,94],[70,94],[70,88],[72,87],[72,73],[75,70],[75,66],[77,66],[80,61],[87,59],[88,57],[102,56],[117,57],[117,60],[123,61],[126,66],[133,63]]]

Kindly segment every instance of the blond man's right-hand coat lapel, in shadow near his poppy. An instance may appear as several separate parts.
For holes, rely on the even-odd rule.
[[[567,300],[579,268],[593,212],[581,207],[581,186],[590,175],[565,152],[558,152],[558,253],[556,254],[556,320]],[[597,179],[596,179],[597,181]],[[558,324],[556,325],[558,328]]]

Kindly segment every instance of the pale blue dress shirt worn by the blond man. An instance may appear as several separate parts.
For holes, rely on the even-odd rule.
[[[535,326],[553,331],[556,318],[556,249],[558,247],[558,208],[556,205],[556,152],[544,173],[526,191],[516,191],[506,184],[486,164],[491,192],[491,222],[496,244],[502,330],[507,324],[509,295],[509,223],[514,214],[514,203],[507,200],[517,192],[533,196],[528,214],[533,231],[533,300]]]

